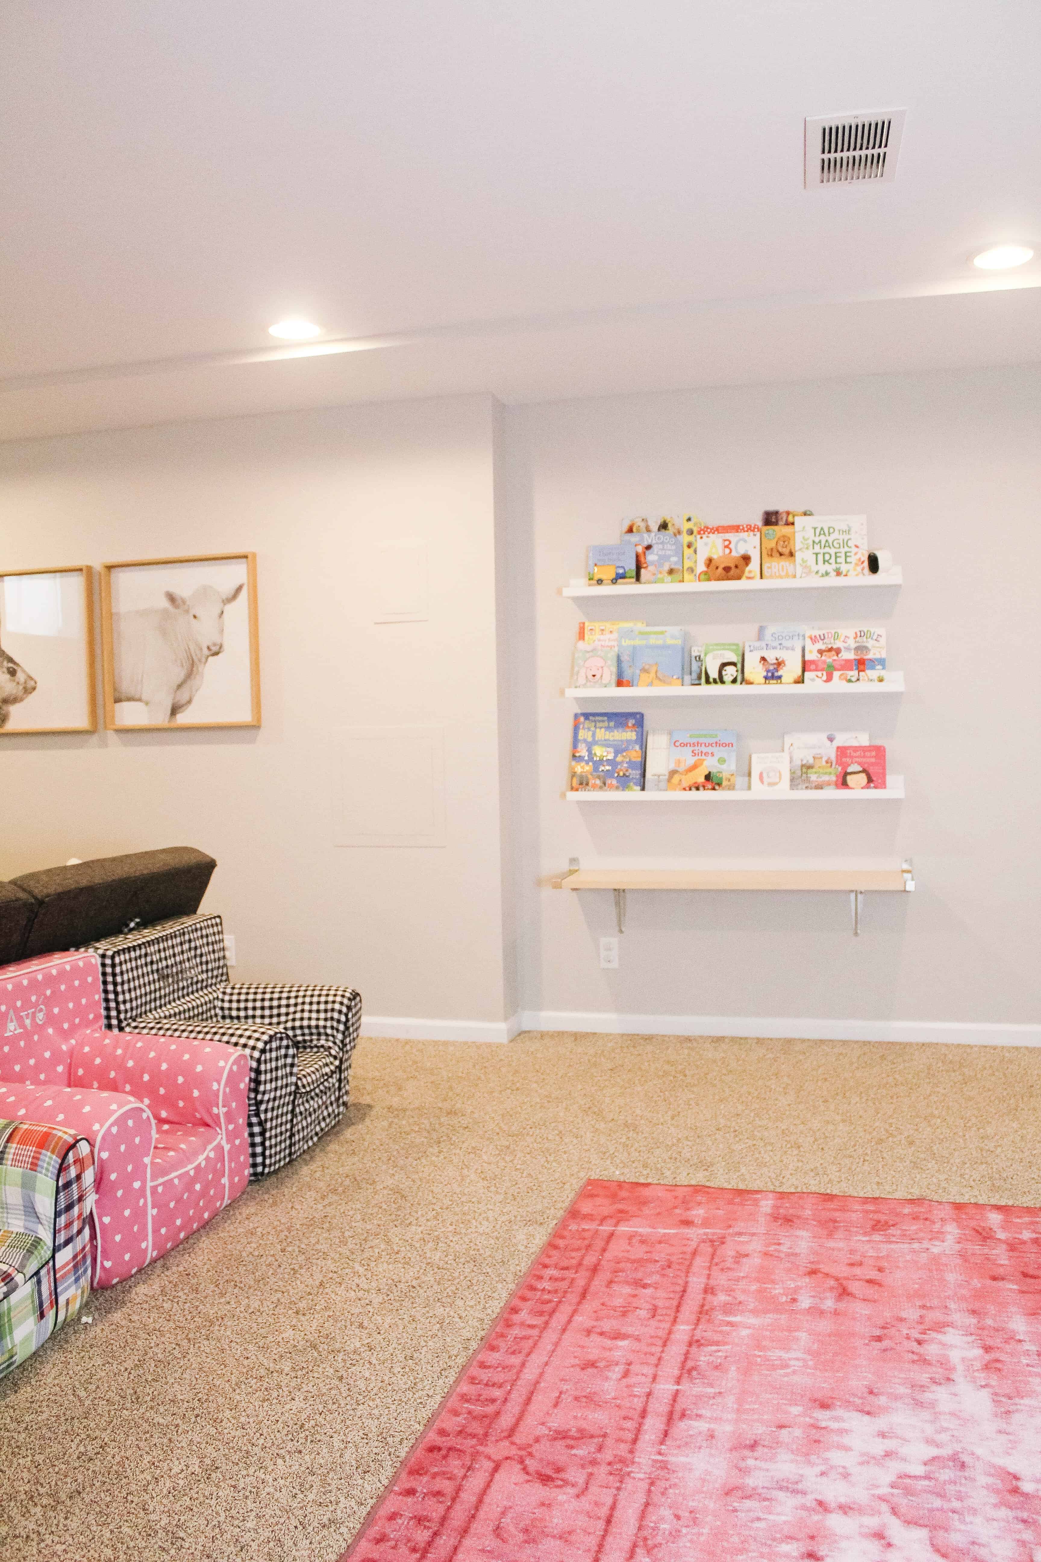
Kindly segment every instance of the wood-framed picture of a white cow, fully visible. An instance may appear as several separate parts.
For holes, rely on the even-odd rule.
[[[259,726],[256,555],[101,565],[105,725]]]

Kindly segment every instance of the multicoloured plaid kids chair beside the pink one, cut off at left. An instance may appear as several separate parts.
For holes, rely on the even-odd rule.
[[[0,1118],[0,1378],[83,1306],[92,1209],[86,1139]]]

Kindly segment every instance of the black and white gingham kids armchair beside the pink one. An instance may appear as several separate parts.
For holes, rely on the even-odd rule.
[[[250,1176],[303,1154],[340,1120],[362,1023],[353,987],[229,982],[217,915],[170,917],[89,943],[105,1023],[223,1042],[250,1059]]]

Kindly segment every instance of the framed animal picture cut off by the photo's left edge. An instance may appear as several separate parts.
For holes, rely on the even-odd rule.
[[[0,575],[0,737],[97,725],[94,570]]]

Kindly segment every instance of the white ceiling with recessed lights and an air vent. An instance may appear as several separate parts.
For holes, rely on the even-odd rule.
[[[0,437],[1041,359],[1039,67],[1035,0],[9,3]]]

